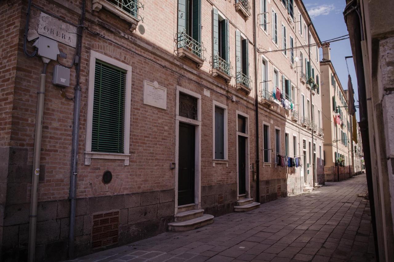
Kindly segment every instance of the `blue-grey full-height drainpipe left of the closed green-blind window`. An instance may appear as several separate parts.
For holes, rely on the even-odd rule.
[[[78,137],[79,115],[81,109],[80,59],[82,49],[82,30],[85,19],[85,0],[82,1],[81,18],[77,29],[78,46],[76,50],[76,84],[74,87],[74,120],[72,123],[72,148],[71,148],[71,172],[70,172],[70,228],[69,228],[69,258],[74,257],[74,233],[75,233],[75,210],[76,210],[76,176],[78,174]]]

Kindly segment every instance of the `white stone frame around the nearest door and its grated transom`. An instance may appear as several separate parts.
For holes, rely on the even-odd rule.
[[[175,101],[175,214],[178,213],[178,157],[179,157],[179,122],[195,126],[195,152],[194,152],[194,205],[196,209],[201,208],[201,95],[184,89],[177,85]],[[197,120],[179,115],[179,92],[197,98]]]

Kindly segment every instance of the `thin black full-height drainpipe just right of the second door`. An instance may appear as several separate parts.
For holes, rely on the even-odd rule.
[[[257,85],[257,46],[256,46],[256,1],[253,0],[253,45],[255,47],[255,120],[256,120],[256,202],[260,202],[260,159],[258,143],[258,85]],[[260,61],[260,59],[259,59]]]

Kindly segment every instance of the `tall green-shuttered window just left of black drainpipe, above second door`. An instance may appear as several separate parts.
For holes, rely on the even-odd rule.
[[[235,54],[237,83],[242,83],[249,87],[249,81],[242,81],[242,75],[249,78],[249,43],[240,31],[235,31]]]

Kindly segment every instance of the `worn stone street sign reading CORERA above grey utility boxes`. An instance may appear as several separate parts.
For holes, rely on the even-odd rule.
[[[45,13],[40,14],[38,33],[68,46],[76,46],[76,27]]]

